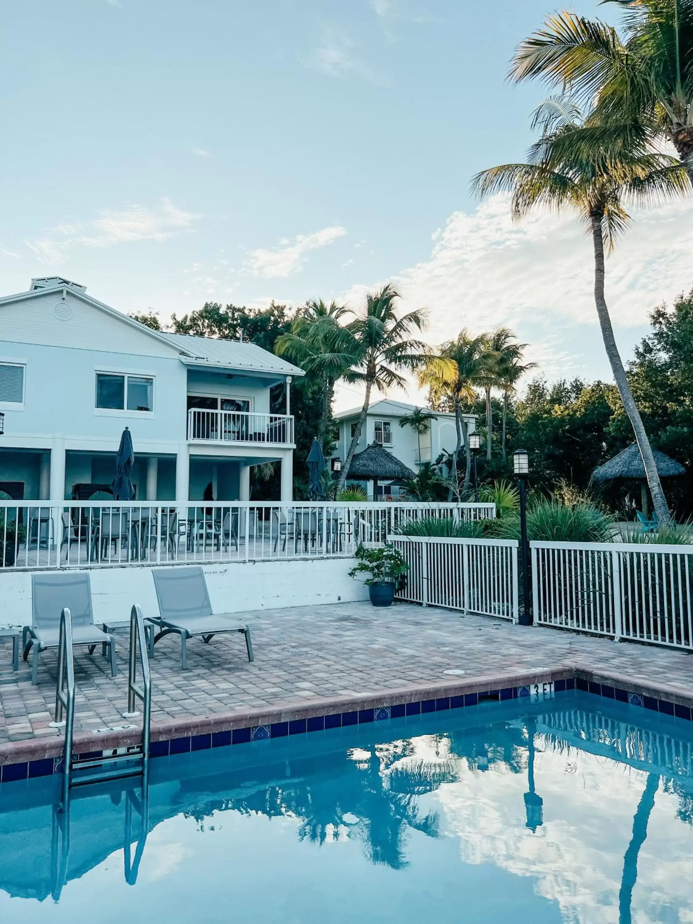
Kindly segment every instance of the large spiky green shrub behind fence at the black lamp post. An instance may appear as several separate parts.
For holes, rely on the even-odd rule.
[[[499,539],[520,538],[517,512],[491,522],[492,533]],[[530,541],[612,542],[614,520],[591,504],[566,506],[555,498],[541,497],[528,505],[527,534]]]

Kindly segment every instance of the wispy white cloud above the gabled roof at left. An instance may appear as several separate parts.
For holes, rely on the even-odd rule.
[[[86,224],[58,225],[43,237],[26,243],[40,261],[55,264],[62,262],[67,250],[75,246],[112,247],[139,240],[162,241],[189,227],[198,217],[164,198],[153,209],[133,204],[118,212],[103,212]]]

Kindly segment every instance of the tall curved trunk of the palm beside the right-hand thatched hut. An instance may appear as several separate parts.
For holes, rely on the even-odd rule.
[[[636,443],[642,458],[642,464],[645,467],[650,494],[652,495],[652,504],[660,524],[668,523],[671,519],[669,507],[666,504],[666,498],[662,490],[662,482],[657,472],[657,466],[652,455],[652,447],[648,434],[638,411],[638,405],[630,391],[630,385],[626,379],[626,370],[624,369],[621,356],[618,352],[618,346],[614,337],[614,328],[609,317],[609,309],[606,306],[604,298],[604,240],[602,236],[602,215],[592,214],[592,240],[594,242],[594,301],[597,306],[597,315],[599,317],[600,327],[602,328],[602,338],[606,355],[611,363],[611,369],[614,373],[614,380],[618,388],[618,394],[621,395],[623,406],[626,408],[626,414],[630,420],[633,432],[635,433]]]

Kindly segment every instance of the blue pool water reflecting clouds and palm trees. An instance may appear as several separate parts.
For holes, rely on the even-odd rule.
[[[693,724],[584,693],[58,784],[0,787],[0,921],[693,920]]]

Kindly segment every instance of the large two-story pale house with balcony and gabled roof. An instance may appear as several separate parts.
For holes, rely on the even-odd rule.
[[[214,500],[247,500],[251,466],[270,461],[291,500],[289,383],[303,374],[255,344],[158,333],[85,286],[32,279],[0,298],[0,498],[86,499],[115,477],[127,426],[138,500],[201,500],[210,484]],[[279,383],[286,413],[272,414]]]

